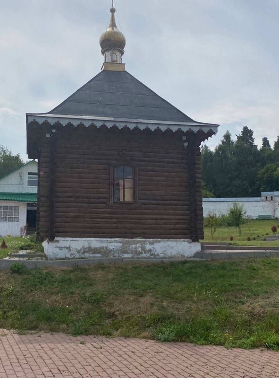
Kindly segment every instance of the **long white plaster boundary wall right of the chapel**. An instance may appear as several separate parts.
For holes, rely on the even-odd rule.
[[[206,217],[209,212],[228,214],[235,202],[243,205],[246,216],[251,219],[257,219],[259,215],[279,218],[279,192],[262,192],[261,197],[256,198],[203,198],[203,215]]]

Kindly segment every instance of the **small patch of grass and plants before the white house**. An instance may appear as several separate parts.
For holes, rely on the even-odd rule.
[[[5,236],[0,237],[0,245],[3,242],[3,239],[6,242],[8,248],[0,248],[0,259],[3,259],[8,255],[9,252],[16,252],[20,249],[21,246],[26,246],[28,249],[33,251],[43,252],[42,244],[36,242],[36,236]]]

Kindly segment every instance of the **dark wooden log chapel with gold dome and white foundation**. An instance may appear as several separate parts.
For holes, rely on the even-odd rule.
[[[183,257],[200,250],[200,144],[193,121],[125,70],[111,8],[103,69],[44,114],[26,114],[38,160],[37,235],[49,259]]]

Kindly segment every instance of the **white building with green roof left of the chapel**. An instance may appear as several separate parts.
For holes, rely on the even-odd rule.
[[[30,161],[0,178],[0,235],[20,235],[36,231],[37,162]]]

